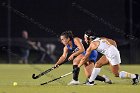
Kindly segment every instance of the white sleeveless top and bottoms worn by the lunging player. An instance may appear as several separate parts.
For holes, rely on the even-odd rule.
[[[99,41],[100,44],[96,50],[104,54],[112,65],[121,63],[120,53],[114,45],[110,44],[106,39],[96,38],[92,42],[94,41]]]

